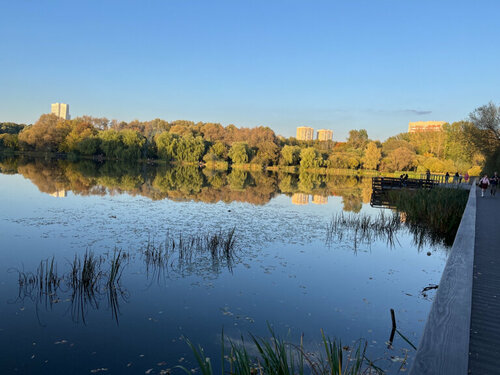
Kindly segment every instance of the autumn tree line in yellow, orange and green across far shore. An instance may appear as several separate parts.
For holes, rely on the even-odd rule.
[[[256,165],[285,169],[468,172],[500,165],[500,107],[475,109],[467,120],[442,131],[401,133],[384,142],[364,129],[345,142],[299,141],[268,127],[237,128],[191,121],[118,122],[90,116],[72,120],[44,114],[33,125],[0,123],[0,149],[65,153],[110,160],[156,159],[205,164]]]

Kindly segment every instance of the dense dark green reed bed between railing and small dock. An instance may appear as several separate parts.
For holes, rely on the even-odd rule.
[[[390,202],[399,212],[404,212],[414,236],[443,239],[448,246],[455,239],[468,195],[467,190],[439,187],[388,192]]]

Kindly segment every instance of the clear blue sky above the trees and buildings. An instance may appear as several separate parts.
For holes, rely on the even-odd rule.
[[[500,104],[500,1],[0,0],[0,122],[366,129]]]

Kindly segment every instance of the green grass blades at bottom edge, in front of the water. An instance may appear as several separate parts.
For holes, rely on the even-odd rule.
[[[257,355],[251,355],[244,338],[240,344],[227,340],[229,353],[225,352],[225,338],[222,335],[221,357],[222,375],[369,375],[383,374],[372,361],[366,357],[367,342],[359,340],[352,347],[342,346],[340,341],[326,337],[321,331],[323,352],[307,352],[302,344],[286,342],[277,336],[271,327],[270,338],[258,338],[251,335],[251,345]],[[201,346],[194,345],[186,339],[191,348],[200,372],[203,375],[215,374],[210,357]],[[178,366],[185,373],[192,371]]]

